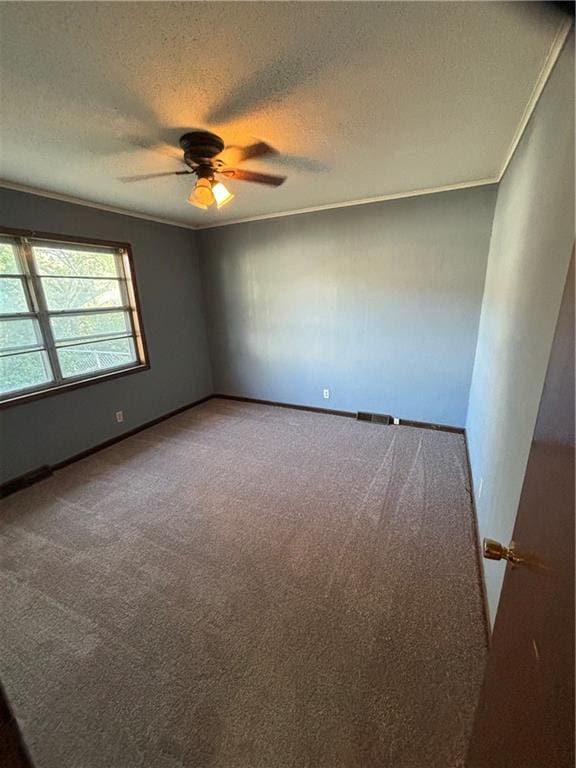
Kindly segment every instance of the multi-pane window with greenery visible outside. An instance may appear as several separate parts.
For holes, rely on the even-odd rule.
[[[127,245],[0,234],[0,402],[146,367]]]

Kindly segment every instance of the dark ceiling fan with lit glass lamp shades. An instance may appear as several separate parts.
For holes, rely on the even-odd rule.
[[[219,136],[209,131],[191,131],[180,137],[180,147],[184,152],[184,163],[188,166],[185,171],[169,171],[168,173],[146,173],[140,176],[125,176],[124,182],[144,181],[157,179],[161,176],[185,176],[193,174],[196,183],[188,197],[188,202],[196,208],[206,210],[213,203],[221,208],[230,202],[234,195],[217,179],[224,176],[238,181],[251,181],[256,184],[266,184],[270,187],[279,187],[286,181],[286,176],[275,176],[269,173],[257,173],[245,171],[242,168],[233,168],[226,164],[219,155],[224,150],[233,150],[237,156],[236,162],[251,160],[265,155],[275,155],[276,150],[264,141],[258,141],[247,147],[226,147]]]

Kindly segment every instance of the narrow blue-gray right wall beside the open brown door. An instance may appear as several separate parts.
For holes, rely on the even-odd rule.
[[[467,433],[481,536],[507,544],[574,242],[574,46],[499,185]],[[545,510],[542,510],[545,514]],[[492,620],[503,563],[485,561]]]

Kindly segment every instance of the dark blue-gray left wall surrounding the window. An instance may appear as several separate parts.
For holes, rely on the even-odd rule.
[[[130,242],[149,371],[0,411],[0,482],[54,464],[212,393],[194,233],[0,189],[0,223]],[[118,424],[115,412],[124,411]]]

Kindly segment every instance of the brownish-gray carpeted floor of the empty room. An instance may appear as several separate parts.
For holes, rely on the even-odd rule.
[[[212,400],[6,499],[37,768],[456,768],[486,655],[461,435]]]

